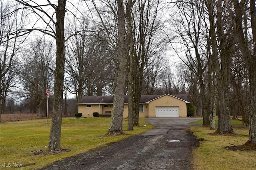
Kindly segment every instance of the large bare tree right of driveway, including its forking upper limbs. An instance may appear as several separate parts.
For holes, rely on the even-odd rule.
[[[218,88],[218,113],[219,122],[216,133],[234,133],[230,125],[229,85],[231,57],[234,54],[234,35],[232,35],[232,24],[230,18],[223,12],[226,6],[222,2],[205,1],[210,21],[210,38],[212,55],[216,69],[216,81]],[[215,13],[216,12],[216,13]],[[216,22],[215,22],[216,21]],[[215,27],[216,26],[216,27]],[[218,37],[218,43],[216,35]],[[218,54],[220,57],[218,57]]]

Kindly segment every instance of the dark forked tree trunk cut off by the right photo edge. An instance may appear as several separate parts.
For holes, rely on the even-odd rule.
[[[243,59],[249,73],[250,83],[250,113],[249,113],[249,140],[247,143],[256,145],[256,7],[255,1],[250,0],[250,16],[251,16],[251,29],[252,29],[252,45],[253,49],[250,51],[250,44],[247,39],[247,19],[244,20],[245,30],[242,26],[242,16],[246,16],[245,6],[246,1],[233,1],[236,16],[233,16],[236,37],[242,51]],[[232,14],[232,13],[231,13]],[[246,35],[244,35],[246,34]]]

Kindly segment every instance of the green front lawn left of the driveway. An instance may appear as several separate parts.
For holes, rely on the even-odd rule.
[[[88,117],[81,119],[63,118],[61,131],[61,147],[68,152],[60,154],[33,155],[35,150],[47,149],[51,119],[7,122],[0,124],[0,169],[14,169],[13,163],[22,164],[22,170],[40,168],[57,160],[93,150],[112,142],[144,133],[153,126],[140,118],[141,127],[134,131],[126,131],[128,121],[123,120],[124,133],[118,137],[104,137],[110,125],[110,118]],[[143,126],[146,125],[146,126]],[[4,164],[10,168],[3,167]]]

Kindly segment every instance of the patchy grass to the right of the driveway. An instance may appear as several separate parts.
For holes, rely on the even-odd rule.
[[[193,122],[202,125],[202,120]],[[218,122],[216,122],[218,125]],[[193,152],[193,164],[196,170],[252,170],[256,169],[256,151],[232,151],[226,146],[242,145],[248,141],[248,128],[241,121],[231,120],[234,131],[240,135],[211,135],[215,130],[209,127],[190,127],[190,131],[204,139]]]

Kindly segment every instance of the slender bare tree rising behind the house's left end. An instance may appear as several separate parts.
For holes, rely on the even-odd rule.
[[[88,22],[83,20],[81,25],[78,26],[76,21],[70,21],[68,30],[70,32],[76,32],[80,29],[86,30]],[[77,101],[82,99],[83,92],[86,89],[86,83],[88,77],[92,76],[94,67],[92,66],[93,59],[88,55],[89,51],[89,37],[86,32],[81,32],[71,37],[68,41],[68,57],[66,60],[66,70],[69,74],[70,92],[76,94]],[[91,90],[88,88],[88,94],[91,94]]]

